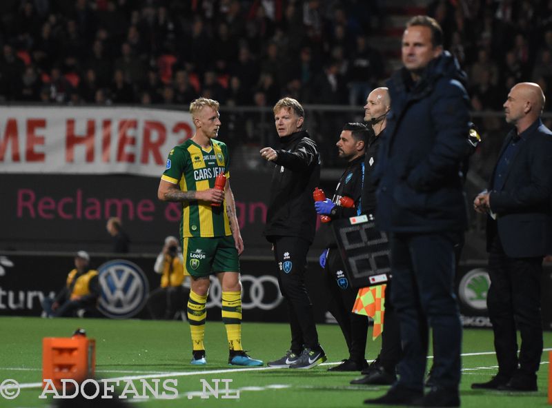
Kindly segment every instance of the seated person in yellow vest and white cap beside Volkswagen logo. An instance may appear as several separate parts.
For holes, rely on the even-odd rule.
[[[95,311],[101,288],[98,272],[90,269],[89,263],[88,252],[79,251],[75,254],[75,269],[69,272],[66,285],[55,298],[45,298],[42,301],[46,316],[72,317],[76,316],[79,309]]]

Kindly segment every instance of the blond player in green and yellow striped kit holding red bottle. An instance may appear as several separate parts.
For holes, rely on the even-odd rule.
[[[242,284],[239,258],[244,241],[239,232],[230,181],[217,190],[217,174],[229,178],[230,158],[226,144],[215,141],[221,121],[219,103],[199,98],[190,103],[195,134],[170,151],[159,181],[161,201],[182,203],[181,238],[184,267],[192,277],[188,320],[192,338],[193,365],[205,365],[204,346],[209,276],[215,274],[222,288],[222,322],[228,338],[228,364],[263,365],[242,348]],[[184,179],[185,183],[180,184]],[[185,185],[181,190],[181,185]]]

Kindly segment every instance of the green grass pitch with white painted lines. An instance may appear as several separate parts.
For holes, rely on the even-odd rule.
[[[328,355],[328,362],[308,370],[236,368],[228,366],[228,349],[224,326],[208,322],[206,349],[208,365],[190,365],[190,337],[188,324],[177,321],[108,320],[108,319],[42,319],[0,318],[0,383],[6,379],[23,385],[17,398],[8,400],[0,396],[0,407],[48,407],[52,398],[39,399],[42,380],[42,338],[70,337],[77,327],[83,327],[90,338],[96,340],[96,376],[98,378],[160,378],[177,381],[177,398],[148,400],[132,399],[129,406],[139,407],[239,407],[239,408],[346,408],[362,407],[365,398],[385,393],[387,387],[353,386],[349,380],[355,374],[338,374],[326,371],[331,365],[346,358],[346,346],[337,325],[319,325],[320,343]],[[370,333],[371,335],[371,333]],[[276,323],[244,323],[244,346],[254,358],[265,362],[279,358],[288,347],[287,325]],[[552,347],[552,333],[545,332],[544,347]],[[380,349],[380,340],[368,338],[366,358],[372,360]],[[462,357],[462,407],[547,407],[549,380],[549,351],[542,356],[539,371],[539,391],[533,393],[504,393],[475,391],[473,382],[485,381],[496,372],[493,354],[493,334],[487,329],[464,330]],[[428,360],[431,363],[431,359]],[[219,383],[219,398],[201,398],[201,379],[213,388],[213,379],[232,380],[229,395],[224,396],[224,383]],[[150,383],[151,385],[152,383]],[[174,383],[171,384],[171,386]],[[121,389],[119,388],[119,391]],[[161,389],[162,391],[162,389]],[[175,392],[169,393],[176,394]],[[138,404],[138,405],[135,405]],[[103,406],[101,400],[97,407]]]

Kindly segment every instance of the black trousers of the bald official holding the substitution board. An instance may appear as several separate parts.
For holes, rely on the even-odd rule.
[[[385,314],[384,331],[382,332],[382,349],[380,351],[380,365],[385,371],[395,374],[397,364],[402,356],[401,332],[399,316],[392,299],[393,280],[388,281],[385,287]]]

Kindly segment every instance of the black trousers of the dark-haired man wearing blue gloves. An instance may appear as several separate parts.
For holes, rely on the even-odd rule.
[[[341,328],[349,359],[361,363],[366,351],[368,335],[368,317],[351,312],[355,305],[358,289],[353,289],[348,281],[343,280],[344,265],[337,248],[330,249],[324,269],[324,281],[330,294],[328,310]]]

